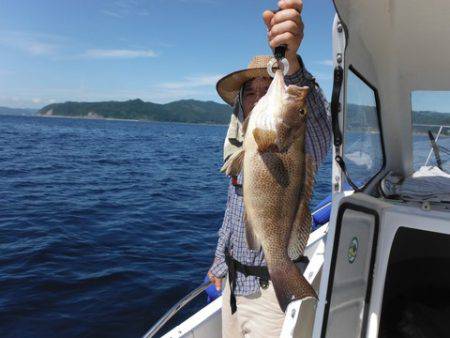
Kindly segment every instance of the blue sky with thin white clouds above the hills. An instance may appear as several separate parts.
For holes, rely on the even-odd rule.
[[[194,98],[220,102],[215,82],[270,53],[261,0],[2,0],[0,105]],[[305,0],[307,68],[329,95],[329,0]]]

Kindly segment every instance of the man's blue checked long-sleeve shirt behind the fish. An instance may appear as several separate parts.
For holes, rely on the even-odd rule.
[[[307,97],[308,118],[305,151],[310,154],[318,167],[325,159],[331,142],[330,110],[322,90],[315,83],[314,78],[302,66],[290,76],[285,76],[286,84],[309,86]],[[239,183],[241,177],[239,177]],[[250,250],[247,246],[244,230],[244,204],[242,188],[232,184],[228,187],[228,198],[222,227],[219,230],[215,260],[211,272],[216,277],[227,274],[225,264],[225,248],[228,248],[234,259],[242,264],[251,266],[265,266],[264,253]],[[244,276],[237,272],[235,295],[250,295],[259,291],[259,280],[254,276]]]

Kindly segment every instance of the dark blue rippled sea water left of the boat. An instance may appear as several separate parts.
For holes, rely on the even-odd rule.
[[[138,337],[199,285],[225,208],[225,133],[0,116],[0,335]],[[316,181],[313,206],[330,158]]]

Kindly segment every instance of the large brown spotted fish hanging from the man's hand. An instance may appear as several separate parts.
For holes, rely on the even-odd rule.
[[[313,287],[292,261],[307,244],[315,163],[305,152],[309,87],[286,86],[277,70],[266,94],[244,121],[244,141],[223,165],[229,176],[243,176],[247,245],[262,247],[283,312],[293,300],[316,298]]]

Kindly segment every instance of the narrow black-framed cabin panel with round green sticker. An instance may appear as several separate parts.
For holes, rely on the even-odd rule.
[[[349,203],[341,206],[328,281],[322,337],[364,336],[378,227],[379,218],[374,210]]]

